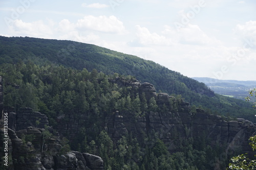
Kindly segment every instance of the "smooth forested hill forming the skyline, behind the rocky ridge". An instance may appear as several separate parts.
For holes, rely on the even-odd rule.
[[[214,94],[205,84],[169,70],[153,61],[141,59],[93,44],[66,40],[0,36],[0,61],[3,65],[32,62],[37,65],[63,65],[72,69],[86,68],[110,75],[134,76],[154,84],[157,92],[181,94],[191,105],[208,113],[243,117],[255,121],[251,104]]]

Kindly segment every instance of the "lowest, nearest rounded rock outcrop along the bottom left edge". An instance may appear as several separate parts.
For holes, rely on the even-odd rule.
[[[41,152],[42,131],[44,129],[29,127],[27,130],[15,131],[8,129],[9,144],[12,160],[16,160],[14,167],[17,170],[100,170],[103,169],[103,160],[96,155],[71,151],[58,154],[61,148],[58,139],[49,139]],[[1,130],[1,134],[4,132]],[[32,142],[24,143],[23,135],[34,135]]]

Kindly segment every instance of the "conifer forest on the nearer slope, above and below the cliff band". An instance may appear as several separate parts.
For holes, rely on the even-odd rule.
[[[215,162],[209,162],[222,153],[222,148],[212,147],[203,134],[186,140],[174,136],[179,152],[173,154],[159,139],[158,132],[144,134],[143,141],[132,132],[113,141],[104,131],[113,111],[118,110],[121,115],[132,112],[136,118],[148,111],[175,112],[180,107],[175,101],[170,101],[172,107],[159,107],[154,98],[147,102],[136,89],[118,87],[110,82],[118,74],[107,76],[96,69],[89,72],[63,66],[38,66],[32,62],[5,64],[0,74],[5,82],[6,108],[14,107],[18,112],[25,106],[31,107],[46,114],[54,129],[58,129],[58,124],[68,124],[71,117],[81,119],[79,116],[87,113],[90,121],[80,122],[82,128],[76,138],[69,138],[69,132],[65,135],[72,141],[69,143],[72,150],[102,157],[105,169],[212,169]],[[119,76],[125,81],[134,80],[131,76]],[[66,117],[57,122],[60,115]],[[222,166],[227,162],[228,159]]]

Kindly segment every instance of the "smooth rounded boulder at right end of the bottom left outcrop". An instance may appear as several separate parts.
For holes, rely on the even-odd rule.
[[[102,170],[103,168],[103,160],[96,155],[88,154],[88,153],[83,153],[83,157],[86,159],[87,166],[91,170]]]

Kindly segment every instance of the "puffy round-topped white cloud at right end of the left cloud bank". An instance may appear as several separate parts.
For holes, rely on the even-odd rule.
[[[124,34],[126,32],[123,23],[113,15],[109,17],[84,16],[83,19],[77,21],[76,25],[79,29],[89,29],[105,33]]]

